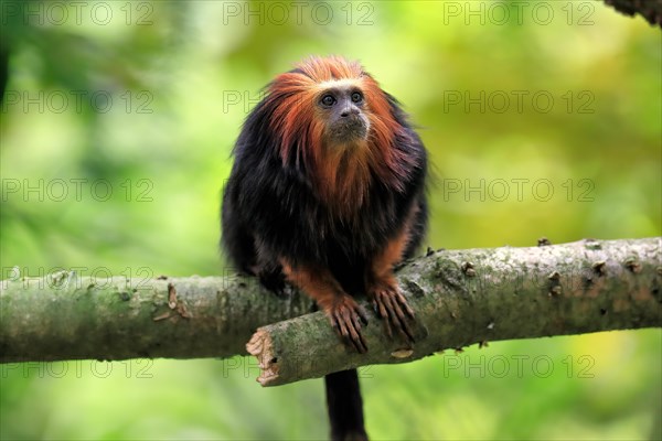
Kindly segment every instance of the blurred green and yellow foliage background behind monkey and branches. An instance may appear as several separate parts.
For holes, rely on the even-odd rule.
[[[599,1],[3,1],[1,13],[0,278],[223,273],[233,141],[260,87],[310,54],[360,60],[420,127],[433,248],[662,234],[660,30]],[[369,432],[660,439],[661,346],[660,330],[612,332],[372,366]],[[248,358],[0,370],[7,440],[327,435],[320,380],[261,389]]]

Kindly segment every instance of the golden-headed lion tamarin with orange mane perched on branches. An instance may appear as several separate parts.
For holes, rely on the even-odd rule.
[[[222,245],[270,289],[310,295],[340,335],[367,351],[366,294],[413,340],[393,268],[427,224],[427,154],[398,101],[356,62],[311,57],[278,75],[248,115],[223,194]],[[356,370],[327,376],[333,439],[366,439]]]

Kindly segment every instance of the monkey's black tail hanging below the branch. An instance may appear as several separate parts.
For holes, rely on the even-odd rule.
[[[327,407],[333,441],[365,441],[363,400],[356,369],[341,370],[324,377]]]

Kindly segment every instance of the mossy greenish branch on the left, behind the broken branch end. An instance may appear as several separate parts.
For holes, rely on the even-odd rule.
[[[310,312],[249,277],[46,278],[0,282],[0,362],[231,357],[261,325]]]

